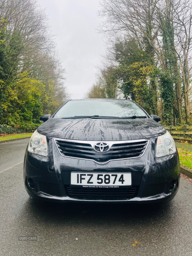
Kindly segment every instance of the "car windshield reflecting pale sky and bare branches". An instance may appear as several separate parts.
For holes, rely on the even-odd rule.
[[[130,100],[70,100],[60,108],[54,118],[75,116],[131,117],[146,114]]]

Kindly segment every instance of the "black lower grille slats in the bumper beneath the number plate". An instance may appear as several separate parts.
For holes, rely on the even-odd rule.
[[[137,196],[139,186],[132,188],[76,188],[65,186],[66,194],[69,197],[89,199],[129,199]]]

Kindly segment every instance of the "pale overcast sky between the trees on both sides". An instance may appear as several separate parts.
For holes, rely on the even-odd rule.
[[[66,86],[72,99],[84,98],[95,81],[95,66],[105,52],[102,36],[96,28],[99,0],[39,0],[46,9],[63,67]]]

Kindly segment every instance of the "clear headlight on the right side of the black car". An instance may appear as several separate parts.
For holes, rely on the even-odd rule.
[[[175,142],[169,132],[157,138],[156,157],[168,156],[176,152]]]

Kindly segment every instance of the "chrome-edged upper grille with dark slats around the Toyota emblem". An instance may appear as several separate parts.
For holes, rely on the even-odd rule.
[[[97,153],[92,146],[95,141],[85,143],[77,140],[55,139],[55,142],[63,156],[89,159],[101,164],[110,160],[140,157],[148,145],[148,140],[116,141],[113,142],[108,152]]]

